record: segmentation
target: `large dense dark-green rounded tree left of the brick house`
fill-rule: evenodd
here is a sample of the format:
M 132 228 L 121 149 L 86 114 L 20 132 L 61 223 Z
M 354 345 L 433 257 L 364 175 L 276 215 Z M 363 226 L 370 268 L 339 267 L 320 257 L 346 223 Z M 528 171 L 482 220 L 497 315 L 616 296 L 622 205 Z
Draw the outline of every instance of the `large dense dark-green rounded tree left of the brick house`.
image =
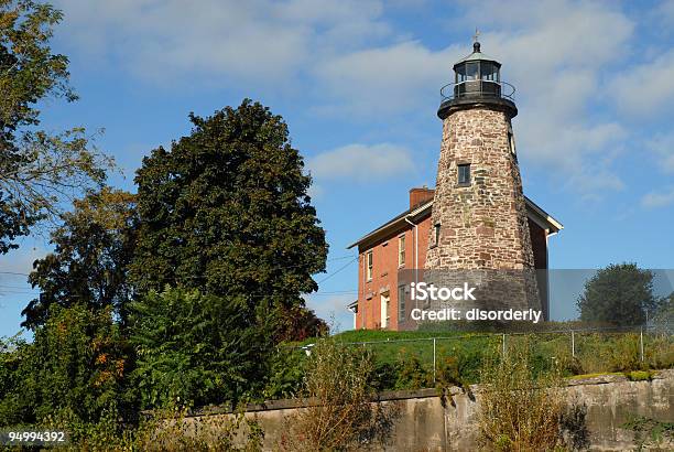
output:
M 248 99 L 191 120 L 189 136 L 152 151 L 137 173 L 139 291 L 198 288 L 251 313 L 302 306 L 327 244 L 287 126 Z

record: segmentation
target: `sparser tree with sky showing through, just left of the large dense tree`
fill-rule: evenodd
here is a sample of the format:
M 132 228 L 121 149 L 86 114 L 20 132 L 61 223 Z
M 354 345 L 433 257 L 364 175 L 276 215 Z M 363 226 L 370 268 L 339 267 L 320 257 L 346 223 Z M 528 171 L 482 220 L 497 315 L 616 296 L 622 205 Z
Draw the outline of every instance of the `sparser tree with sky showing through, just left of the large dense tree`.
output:
M 134 195 L 109 187 L 76 200 L 52 233 L 54 251 L 35 260 L 29 276 L 40 297 L 23 310 L 22 326 L 44 324 L 55 305 L 111 306 L 122 321 L 131 287 L 127 272 L 137 227 Z

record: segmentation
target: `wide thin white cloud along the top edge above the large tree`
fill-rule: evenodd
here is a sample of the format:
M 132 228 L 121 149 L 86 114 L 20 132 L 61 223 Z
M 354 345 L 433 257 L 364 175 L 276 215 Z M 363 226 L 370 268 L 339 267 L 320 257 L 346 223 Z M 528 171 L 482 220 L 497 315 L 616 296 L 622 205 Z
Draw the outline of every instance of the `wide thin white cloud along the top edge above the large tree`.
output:
M 167 83 L 189 75 L 283 85 L 318 54 L 385 35 L 378 0 L 57 0 L 73 46 Z

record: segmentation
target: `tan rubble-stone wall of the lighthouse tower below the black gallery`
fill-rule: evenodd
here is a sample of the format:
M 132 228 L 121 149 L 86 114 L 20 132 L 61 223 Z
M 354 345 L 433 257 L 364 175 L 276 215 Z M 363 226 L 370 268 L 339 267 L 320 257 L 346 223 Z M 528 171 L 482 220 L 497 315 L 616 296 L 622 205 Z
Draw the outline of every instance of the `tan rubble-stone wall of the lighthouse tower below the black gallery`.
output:
M 508 112 L 476 105 L 452 112 L 443 141 L 433 202 L 426 270 L 534 268 L 522 180 L 511 152 Z M 458 184 L 458 165 L 470 164 L 471 183 Z M 522 273 L 511 289 L 513 308 L 540 308 L 535 277 Z M 498 291 L 503 291 L 499 281 Z

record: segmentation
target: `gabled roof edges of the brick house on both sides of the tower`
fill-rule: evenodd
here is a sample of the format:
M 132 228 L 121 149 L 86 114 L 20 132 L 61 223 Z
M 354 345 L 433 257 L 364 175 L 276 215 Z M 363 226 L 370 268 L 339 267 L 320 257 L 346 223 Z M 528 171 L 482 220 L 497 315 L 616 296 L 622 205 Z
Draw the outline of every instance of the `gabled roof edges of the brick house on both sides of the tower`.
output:
M 559 230 L 564 229 L 562 223 L 553 218 L 550 214 L 547 214 L 547 212 L 543 211 L 536 203 L 531 201 L 529 197 L 524 196 L 524 202 L 526 204 L 526 216 L 529 217 L 529 219 L 536 223 L 543 229 L 547 230 L 548 235 L 556 234 Z M 380 236 L 384 236 L 385 233 L 399 229 L 404 226 L 405 223 L 407 223 L 406 219 L 415 223 L 420 218 L 424 218 L 425 216 L 431 215 L 431 207 L 433 207 L 433 200 L 427 201 L 426 203 L 423 203 L 418 206 L 412 207 L 403 212 L 402 214 L 391 218 L 371 233 L 366 234 L 365 236 L 349 245 L 347 249 L 351 249 L 355 246 L 373 240 L 376 238 L 379 238 Z

